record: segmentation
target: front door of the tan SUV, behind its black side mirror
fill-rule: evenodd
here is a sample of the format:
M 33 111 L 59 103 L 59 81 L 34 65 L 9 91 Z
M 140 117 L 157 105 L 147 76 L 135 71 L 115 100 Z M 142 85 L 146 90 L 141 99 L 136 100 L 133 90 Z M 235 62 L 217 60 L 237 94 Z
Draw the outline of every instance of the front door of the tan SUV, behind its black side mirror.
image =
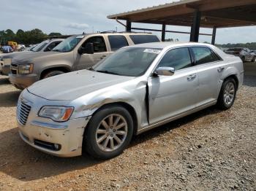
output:
M 80 55 L 77 53 L 75 70 L 88 69 L 112 53 L 108 52 L 103 36 L 93 36 L 86 39 L 86 41 L 83 42 L 82 47 L 85 47 L 87 43 L 94 44 L 94 54 Z

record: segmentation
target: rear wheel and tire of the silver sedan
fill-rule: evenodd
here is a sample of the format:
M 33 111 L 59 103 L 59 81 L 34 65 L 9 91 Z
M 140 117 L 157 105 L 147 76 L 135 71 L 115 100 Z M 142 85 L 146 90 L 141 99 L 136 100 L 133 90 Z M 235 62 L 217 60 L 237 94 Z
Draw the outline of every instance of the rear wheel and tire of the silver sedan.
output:
M 233 78 L 227 78 L 222 84 L 222 88 L 219 92 L 219 98 L 217 101 L 217 106 L 219 109 L 230 109 L 233 106 L 236 99 L 237 85 Z

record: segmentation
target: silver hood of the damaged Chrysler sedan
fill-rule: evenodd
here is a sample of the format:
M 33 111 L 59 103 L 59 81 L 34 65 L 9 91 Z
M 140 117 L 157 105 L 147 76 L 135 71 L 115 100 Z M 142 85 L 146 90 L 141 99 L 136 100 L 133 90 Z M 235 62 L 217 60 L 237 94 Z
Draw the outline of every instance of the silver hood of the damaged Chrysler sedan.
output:
M 48 100 L 72 101 L 82 95 L 134 78 L 80 70 L 43 79 L 28 87 L 28 90 Z

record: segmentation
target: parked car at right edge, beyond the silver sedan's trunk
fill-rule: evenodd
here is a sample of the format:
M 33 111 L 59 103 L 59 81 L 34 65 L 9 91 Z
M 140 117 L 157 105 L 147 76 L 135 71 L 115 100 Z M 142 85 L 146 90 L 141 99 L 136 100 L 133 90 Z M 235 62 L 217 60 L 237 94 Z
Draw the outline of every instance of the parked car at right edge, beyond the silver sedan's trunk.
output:
M 256 53 L 248 48 L 230 48 L 225 52 L 230 55 L 239 56 L 243 62 L 256 62 Z

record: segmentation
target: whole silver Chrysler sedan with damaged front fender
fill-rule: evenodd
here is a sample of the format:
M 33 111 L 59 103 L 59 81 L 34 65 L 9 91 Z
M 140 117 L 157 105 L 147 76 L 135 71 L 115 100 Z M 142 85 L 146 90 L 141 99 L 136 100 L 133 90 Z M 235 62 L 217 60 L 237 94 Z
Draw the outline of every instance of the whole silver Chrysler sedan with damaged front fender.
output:
M 90 69 L 23 90 L 18 129 L 52 155 L 115 157 L 135 134 L 215 104 L 229 109 L 243 78 L 241 59 L 210 44 L 124 47 Z

